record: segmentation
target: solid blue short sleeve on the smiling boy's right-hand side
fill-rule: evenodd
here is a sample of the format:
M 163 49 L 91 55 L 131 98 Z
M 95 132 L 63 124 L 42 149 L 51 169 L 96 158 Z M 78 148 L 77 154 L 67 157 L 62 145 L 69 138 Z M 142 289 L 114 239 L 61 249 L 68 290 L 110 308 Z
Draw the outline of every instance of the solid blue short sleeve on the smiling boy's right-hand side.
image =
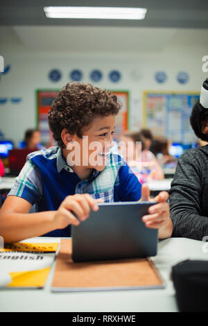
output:
M 119 169 L 119 186 L 115 201 L 137 201 L 141 198 L 141 183 L 128 164 Z

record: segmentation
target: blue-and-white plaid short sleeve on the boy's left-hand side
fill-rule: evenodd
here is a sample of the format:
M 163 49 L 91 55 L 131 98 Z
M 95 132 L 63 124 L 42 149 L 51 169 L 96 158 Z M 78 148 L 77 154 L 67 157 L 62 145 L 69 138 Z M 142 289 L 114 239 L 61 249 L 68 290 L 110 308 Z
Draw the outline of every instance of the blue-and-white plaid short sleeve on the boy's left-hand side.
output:
M 24 164 L 24 167 L 15 179 L 15 185 L 8 193 L 8 196 L 24 198 L 32 205 L 40 200 L 42 196 L 40 171 L 31 160 L 27 160 Z

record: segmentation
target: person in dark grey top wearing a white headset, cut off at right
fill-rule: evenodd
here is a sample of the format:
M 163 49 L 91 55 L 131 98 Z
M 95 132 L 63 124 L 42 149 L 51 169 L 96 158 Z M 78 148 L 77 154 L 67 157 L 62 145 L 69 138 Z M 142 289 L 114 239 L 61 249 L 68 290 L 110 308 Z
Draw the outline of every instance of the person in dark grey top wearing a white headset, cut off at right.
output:
M 190 117 L 196 136 L 208 141 L 208 78 Z M 172 237 L 202 240 L 208 236 L 208 145 L 179 157 L 171 183 Z

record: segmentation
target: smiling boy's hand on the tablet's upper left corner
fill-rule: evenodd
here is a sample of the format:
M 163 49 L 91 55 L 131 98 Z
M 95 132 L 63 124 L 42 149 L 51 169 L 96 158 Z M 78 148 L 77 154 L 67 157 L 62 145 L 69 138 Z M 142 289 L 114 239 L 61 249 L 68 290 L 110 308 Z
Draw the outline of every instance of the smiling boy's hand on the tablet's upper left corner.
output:
M 79 225 L 80 221 L 85 221 L 89 216 L 90 209 L 98 210 L 97 203 L 103 203 L 103 200 L 95 200 L 89 194 L 67 196 L 53 216 L 55 228 L 64 229 L 69 224 Z

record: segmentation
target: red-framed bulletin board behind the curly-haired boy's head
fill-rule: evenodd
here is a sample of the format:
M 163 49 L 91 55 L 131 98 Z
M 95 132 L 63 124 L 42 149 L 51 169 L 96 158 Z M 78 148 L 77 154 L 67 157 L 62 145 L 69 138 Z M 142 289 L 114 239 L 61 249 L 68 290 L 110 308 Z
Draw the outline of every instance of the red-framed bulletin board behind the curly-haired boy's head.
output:
M 58 92 L 58 89 L 37 89 L 36 91 L 37 128 L 40 130 L 41 143 L 44 146 L 55 145 L 52 132 L 49 130 L 48 113 Z M 121 111 L 116 116 L 115 134 L 119 136 L 121 132 L 128 129 L 129 92 L 119 90 L 112 90 L 112 92 L 117 96 L 118 101 L 122 104 Z

